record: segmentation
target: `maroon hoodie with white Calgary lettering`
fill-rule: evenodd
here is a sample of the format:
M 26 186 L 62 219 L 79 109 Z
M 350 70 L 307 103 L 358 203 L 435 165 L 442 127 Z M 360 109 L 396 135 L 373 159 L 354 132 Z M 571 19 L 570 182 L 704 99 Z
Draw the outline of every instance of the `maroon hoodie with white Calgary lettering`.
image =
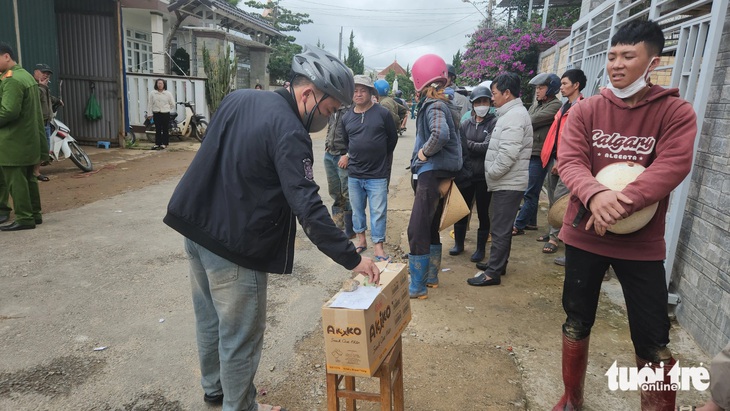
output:
M 679 90 L 652 86 L 644 98 L 629 107 L 610 90 L 580 101 L 570 116 L 558 148 L 560 178 L 571 198 L 560 239 L 582 250 L 625 260 L 658 261 L 666 257 L 664 222 L 669 194 L 689 174 L 697 135 L 692 105 L 679 98 Z M 608 190 L 595 175 L 609 164 L 633 161 L 646 170 L 622 191 L 633 200 L 623 204 L 629 214 L 659 202 L 649 223 L 630 234 L 607 232 L 601 237 L 573 221 L 581 204 Z

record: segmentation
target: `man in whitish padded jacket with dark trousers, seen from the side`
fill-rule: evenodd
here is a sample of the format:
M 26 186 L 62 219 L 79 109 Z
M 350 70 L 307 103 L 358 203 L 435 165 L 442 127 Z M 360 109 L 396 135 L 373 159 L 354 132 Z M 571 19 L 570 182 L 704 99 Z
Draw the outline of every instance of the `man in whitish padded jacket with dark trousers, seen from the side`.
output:
M 507 272 L 512 223 L 527 188 L 532 152 L 532 121 L 520 99 L 520 78 L 514 73 L 500 74 L 491 88 L 497 124 L 489 141 L 484 170 L 487 189 L 492 193 L 492 246 L 489 260 L 477 263 L 483 271 L 467 280 L 474 286 L 498 285 Z

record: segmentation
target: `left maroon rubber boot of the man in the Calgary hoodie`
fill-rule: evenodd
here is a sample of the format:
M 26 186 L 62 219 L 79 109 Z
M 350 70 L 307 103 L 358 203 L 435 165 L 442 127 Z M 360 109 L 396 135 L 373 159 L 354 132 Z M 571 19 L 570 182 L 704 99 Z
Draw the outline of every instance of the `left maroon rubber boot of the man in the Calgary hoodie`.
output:
M 590 336 L 574 340 L 563 334 L 563 384 L 565 393 L 553 411 L 577 411 L 583 406 L 583 385 L 588 368 Z

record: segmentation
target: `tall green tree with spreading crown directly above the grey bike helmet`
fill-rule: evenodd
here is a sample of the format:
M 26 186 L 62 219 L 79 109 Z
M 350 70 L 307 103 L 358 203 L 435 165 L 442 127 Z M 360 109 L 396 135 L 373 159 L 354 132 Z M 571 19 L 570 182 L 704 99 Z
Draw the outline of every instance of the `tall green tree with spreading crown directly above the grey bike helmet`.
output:
M 300 26 L 312 23 L 307 13 L 293 13 L 291 10 L 279 6 L 279 1 L 267 0 L 264 2 L 249 0 L 244 3 L 248 7 L 260 10 L 270 10 L 263 16 L 279 32 L 301 31 Z M 289 80 L 291 61 L 294 55 L 302 51 L 302 46 L 295 44 L 294 36 L 275 37 L 270 41 L 274 49 L 269 59 L 269 75 L 272 82 L 283 84 Z

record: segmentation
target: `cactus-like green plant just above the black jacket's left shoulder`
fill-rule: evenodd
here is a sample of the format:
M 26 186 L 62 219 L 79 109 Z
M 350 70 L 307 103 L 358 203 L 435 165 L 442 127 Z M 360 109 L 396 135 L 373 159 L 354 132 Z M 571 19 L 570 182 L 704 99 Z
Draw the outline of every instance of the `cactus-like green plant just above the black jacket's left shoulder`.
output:
M 205 82 L 205 100 L 208 103 L 208 110 L 213 116 L 223 97 L 233 89 L 233 81 L 236 77 L 238 58 L 231 60 L 231 47 L 226 47 L 226 53 L 221 53 L 221 46 L 218 45 L 216 56 L 211 56 L 208 48 L 203 44 L 203 68 L 208 81 Z

